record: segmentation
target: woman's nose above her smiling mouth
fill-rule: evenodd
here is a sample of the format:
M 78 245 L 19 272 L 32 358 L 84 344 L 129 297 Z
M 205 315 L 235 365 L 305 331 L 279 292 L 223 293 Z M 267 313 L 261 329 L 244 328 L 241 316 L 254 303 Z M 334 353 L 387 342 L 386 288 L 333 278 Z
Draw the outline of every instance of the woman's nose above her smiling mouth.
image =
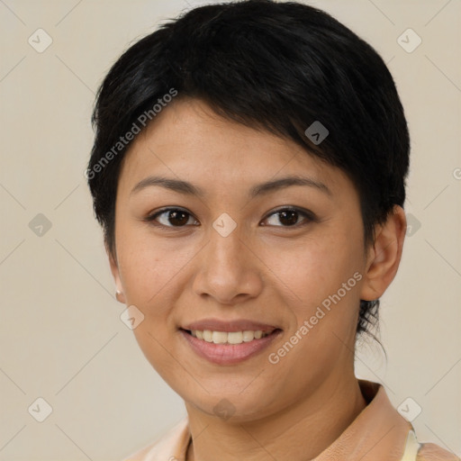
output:
M 235 304 L 257 297 L 262 290 L 262 263 L 239 227 L 223 237 L 215 230 L 195 263 L 194 293 L 212 297 L 217 303 Z

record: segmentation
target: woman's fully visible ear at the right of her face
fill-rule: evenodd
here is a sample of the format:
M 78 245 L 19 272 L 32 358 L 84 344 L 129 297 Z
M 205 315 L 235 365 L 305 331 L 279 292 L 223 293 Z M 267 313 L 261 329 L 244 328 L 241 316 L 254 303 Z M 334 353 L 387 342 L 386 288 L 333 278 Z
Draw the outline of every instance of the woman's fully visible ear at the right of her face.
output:
M 406 228 L 405 212 L 401 206 L 394 205 L 385 223 L 375 229 L 375 242 L 368 249 L 360 299 L 378 299 L 391 285 L 402 258 Z

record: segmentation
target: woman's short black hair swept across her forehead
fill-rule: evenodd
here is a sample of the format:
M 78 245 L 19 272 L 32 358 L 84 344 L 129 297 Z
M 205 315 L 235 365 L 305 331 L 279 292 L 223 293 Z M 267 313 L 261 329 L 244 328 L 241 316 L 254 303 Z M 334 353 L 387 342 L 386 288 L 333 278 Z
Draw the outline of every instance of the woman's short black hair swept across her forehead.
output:
M 393 77 L 376 51 L 312 6 L 206 5 L 132 45 L 99 88 L 86 173 L 112 255 L 118 178 L 131 144 L 121 137 L 147 126 L 140 123 L 146 113 L 155 121 L 154 105 L 172 90 L 176 99 L 200 99 L 218 115 L 294 140 L 343 170 L 357 187 L 366 244 L 393 205 L 403 206 L 409 133 Z M 320 144 L 305 134 L 313 122 L 329 131 Z M 378 307 L 379 300 L 361 300 L 357 333 L 376 324 Z

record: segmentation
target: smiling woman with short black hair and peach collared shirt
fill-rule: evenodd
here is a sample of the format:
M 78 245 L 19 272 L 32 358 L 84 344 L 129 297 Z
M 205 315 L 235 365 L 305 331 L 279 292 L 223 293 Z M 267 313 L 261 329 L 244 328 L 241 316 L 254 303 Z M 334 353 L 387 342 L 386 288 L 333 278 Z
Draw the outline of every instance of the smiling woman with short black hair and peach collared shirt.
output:
M 196 8 L 114 64 L 94 123 L 117 299 L 187 410 L 128 459 L 456 459 L 354 375 L 406 228 L 375 50 L 307 5 Z

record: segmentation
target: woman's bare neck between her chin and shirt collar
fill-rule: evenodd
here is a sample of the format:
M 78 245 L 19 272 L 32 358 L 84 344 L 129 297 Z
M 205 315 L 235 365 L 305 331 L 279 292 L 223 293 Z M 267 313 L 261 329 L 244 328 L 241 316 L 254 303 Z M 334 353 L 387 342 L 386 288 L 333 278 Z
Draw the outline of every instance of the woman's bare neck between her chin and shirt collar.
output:
M 366 407 L 357 378 L 337 376 L 302 402 L 260 420 L 231 423 L 186 404 L 194 443 L 187 461 L 308 461 L 320 455 Z M 238 443 L 236 443 L 238 440 Z

